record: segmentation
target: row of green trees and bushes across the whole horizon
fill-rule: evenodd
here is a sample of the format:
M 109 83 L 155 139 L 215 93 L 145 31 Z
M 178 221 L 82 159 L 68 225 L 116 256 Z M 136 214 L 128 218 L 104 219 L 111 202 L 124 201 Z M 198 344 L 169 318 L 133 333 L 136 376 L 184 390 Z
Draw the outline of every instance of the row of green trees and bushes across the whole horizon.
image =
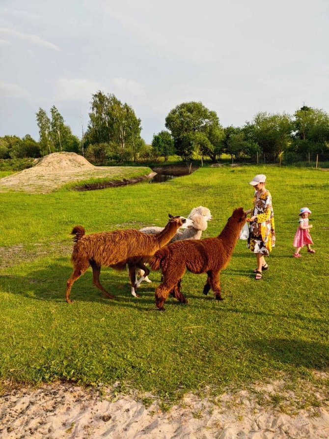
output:
M 92 95 L 86 131 L 78 139 L 53 106 L 50 117 L 36 113 L 39 141 L 28 134 L 0 137 L 0 159 L 40 157 L 56 151 L 73 151 L 94 164 L 157 160 L 177 154 L 184 161 L 195 155 L 216 162 L 222 154 L 235 159 L 257 153 L 278 157 L 282 152 L 329 152 L 329 115 L 304 105 L 294 115 L 257 113 L 244 126 L 223 127 L 215 111 L 201 102 L 184 102 L 165 117 L 165 128 L 152 144 L 141 137 L 141 120 L 127 103 L 101 91 Z

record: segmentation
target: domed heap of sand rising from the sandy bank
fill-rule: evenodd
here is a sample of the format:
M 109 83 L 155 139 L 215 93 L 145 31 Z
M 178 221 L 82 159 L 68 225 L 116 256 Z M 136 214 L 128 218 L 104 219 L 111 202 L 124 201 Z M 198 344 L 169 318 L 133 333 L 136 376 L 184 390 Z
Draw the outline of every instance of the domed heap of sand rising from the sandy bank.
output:
M 95 166 L 88 162 L 82 155 L 75 152 L 53 152 L 43 157 L 33 169 L 47 172 L 57 171 L 83 171 L 94 169 Z

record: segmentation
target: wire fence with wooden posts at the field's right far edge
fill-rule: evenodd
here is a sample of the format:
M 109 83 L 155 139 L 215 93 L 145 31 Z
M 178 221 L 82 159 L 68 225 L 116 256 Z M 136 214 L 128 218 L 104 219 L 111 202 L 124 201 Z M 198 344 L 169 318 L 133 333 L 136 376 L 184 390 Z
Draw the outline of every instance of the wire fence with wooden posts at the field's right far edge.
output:
M 232 163 L 250 163 L 254 165 L 277 164 L 281 166 L 296 166 L 300 168 L 329 168 L 329 153 L 314 154 L 310 152 L 283 152 L 275 154 L 257 153 L 251 157 L 232 158 Z

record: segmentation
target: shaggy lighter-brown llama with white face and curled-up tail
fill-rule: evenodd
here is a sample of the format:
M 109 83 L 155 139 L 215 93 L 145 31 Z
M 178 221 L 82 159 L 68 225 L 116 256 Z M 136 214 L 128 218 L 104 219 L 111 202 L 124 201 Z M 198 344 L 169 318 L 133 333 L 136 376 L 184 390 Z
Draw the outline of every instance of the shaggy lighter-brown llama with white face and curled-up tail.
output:
M 74 269 L 66 283 L 66 301 L 72 302 L 70 300 L 72 285 L 85 273 L 89 265 L 92 268 L 93 284 L 106 297 L 113 299 L 114 296 L 109 294 L 99 281 L 101 267 L 105 265 L 116 270 L 123 270 L 127 264 L 132 293 L 135 293 L 137 288 L 136 269 L 141 268 L 149 274 L 150 270 L 144 263 L 148 262 L 157 250 L 167 244 L 183 224 L 188 226 L 192 223 L 182 216 L 169 215 L 169 218 L 164 230 L 157 235 L 143 234 L 134 229 L 85 235 L 82 226 L 75 226 L 72 230 L 72 234 L 75 234 L 73 238 L 75 244 L 71 257 Z

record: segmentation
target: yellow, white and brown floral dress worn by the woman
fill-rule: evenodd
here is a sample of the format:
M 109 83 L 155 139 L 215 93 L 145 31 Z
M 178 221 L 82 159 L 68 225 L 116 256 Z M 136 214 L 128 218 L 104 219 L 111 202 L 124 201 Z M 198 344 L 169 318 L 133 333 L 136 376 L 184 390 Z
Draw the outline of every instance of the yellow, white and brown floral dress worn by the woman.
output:
M 268 256 L 275 245 L 274 213 L 272 196 L 268 190 L 253 197 L 253 214 L 257 218 L 250 223 L 247 247 L 252 253 Z

